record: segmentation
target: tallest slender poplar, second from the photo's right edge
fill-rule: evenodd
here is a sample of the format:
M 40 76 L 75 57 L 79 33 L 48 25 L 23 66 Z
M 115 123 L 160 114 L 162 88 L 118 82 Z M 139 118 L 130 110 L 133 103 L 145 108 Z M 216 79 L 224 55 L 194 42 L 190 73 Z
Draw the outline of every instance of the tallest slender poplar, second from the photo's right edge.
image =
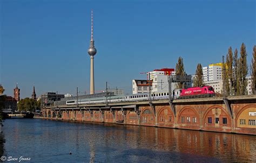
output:
M 248 74 L 248 67 L 247 67 L 247 53 L 246 53 L 246 47 L 244 42 L 241 45 L 240 48 L 240 64 L 241 64 L 241 78 L 240 78 L 240 82 L 241 82 L 241 93 L 242 94 L 247 94 L 247 80 L 246 80 L 246 76 Z

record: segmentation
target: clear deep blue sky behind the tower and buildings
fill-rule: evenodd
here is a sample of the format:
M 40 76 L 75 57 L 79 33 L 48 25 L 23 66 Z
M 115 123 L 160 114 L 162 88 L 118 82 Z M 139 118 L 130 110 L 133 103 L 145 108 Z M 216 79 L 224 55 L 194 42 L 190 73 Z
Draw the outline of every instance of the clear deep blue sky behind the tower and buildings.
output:
M 0 0 L 0 83 L 21 97 L 90 89 L 87 49 L 93 9 L 95 89 L 131 93 L 132 79 L 175 68 L 179 56 L 194 74 L 197 64 L 221 62 L 228 47 L 255 45 L 255 1 Z

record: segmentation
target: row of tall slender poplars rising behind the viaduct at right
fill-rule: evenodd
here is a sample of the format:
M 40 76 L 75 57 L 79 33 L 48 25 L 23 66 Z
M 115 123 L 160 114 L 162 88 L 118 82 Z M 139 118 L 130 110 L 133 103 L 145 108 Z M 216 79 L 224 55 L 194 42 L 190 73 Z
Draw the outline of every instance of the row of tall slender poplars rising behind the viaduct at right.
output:
M 251 86 L 253 94 L 255 94 L 256 88 L 256 46 L 253 47 L 252 61 L 250 64 L 250 75 L 251 75 Z M 240 47 L 240 56 L 238 56 L 238 49 L 235 48 L 234 54 L 232 47 L 228 48 L 226 54 L 226 60 L 223 58 L 222 61 L 222 79 L 223 79 L 223 90 L 225 90 L 225 95 L 242 95 L 247 94 L 247 79 L 248 66 L 247 66 L 247 52 L 246 46 L 242 43 Z M 183 58 L 179 56 L 178 62 L 176 63 L 176 75 L 186 75 Z M 203 87 L 204 76 L 203 67 L 201 63 L 198 63 L 195 76 L 193 78 L 194 87 Z M 184 82 L 177 83 L 177 88 L 182 89 L 185 87 Z

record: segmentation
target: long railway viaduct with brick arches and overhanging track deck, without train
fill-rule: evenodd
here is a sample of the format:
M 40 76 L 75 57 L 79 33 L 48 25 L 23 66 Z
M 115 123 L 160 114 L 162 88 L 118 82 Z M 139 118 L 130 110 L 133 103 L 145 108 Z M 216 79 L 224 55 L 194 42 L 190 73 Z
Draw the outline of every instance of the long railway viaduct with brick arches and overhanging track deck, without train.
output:
M 43 118 L 256 135 L 256 95 L 44 107 Z

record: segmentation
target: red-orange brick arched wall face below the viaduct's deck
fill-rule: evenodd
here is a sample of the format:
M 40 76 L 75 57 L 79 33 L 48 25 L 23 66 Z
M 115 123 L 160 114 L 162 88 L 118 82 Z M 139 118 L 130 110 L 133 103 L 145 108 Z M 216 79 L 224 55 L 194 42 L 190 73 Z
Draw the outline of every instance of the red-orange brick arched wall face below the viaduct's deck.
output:
M 256 135 L 256 126 L 248 125 L 248 119 L 256 118 L 249 116 L 248 112 L 256 112 L 255 101 L 235 101 L 231 104 L 233 118 L 228 112 L 226 105 L 221 101 L 216 102 L 200 102 L 200 103 L 179 103 L 174 104 L 176 108 L 176 117 L 169 104 L 157 104 L 154 110 L 149 105 L 139 107 L 140 114 L 131 110 L 127 110 L 126 115 L 122 111 L 105 111 L 104 117 L 102 112 L 93 111 L 92 117 L 90 111 L 84 111 L 84 121 L 106 122 L 106 123 L 124 123 L 131 125 L 159 126 L 159 127 L 177 127 L 179 129 L 218 131 L 218 132 L 236 132 Z M 246 113 L 246 114 L 245 114 Z M 51 115 L 53 119 L 53 111 L 50 109 L 43 110 L 43 116 Z M 58 115 L 58 112 L 56 112 Z M 248 116 L 245 116 L 248 115 Z M 209 123 L 211 118 L 211 123 Z M 219 118 L 216 123 L 215 118 Z M 225 119 L 224 119 L 225 118 Z M 246 125 L 240 125 L 239 119 L 245 118 Z M 55 118 L 54 118 L 55 119 Z M 58 118 L 61 119 L 61 118 Z M 63 111 L 62 119 L 83 121 L 80 111 Z M 156 122 L 157 121 L 157 122 Z

